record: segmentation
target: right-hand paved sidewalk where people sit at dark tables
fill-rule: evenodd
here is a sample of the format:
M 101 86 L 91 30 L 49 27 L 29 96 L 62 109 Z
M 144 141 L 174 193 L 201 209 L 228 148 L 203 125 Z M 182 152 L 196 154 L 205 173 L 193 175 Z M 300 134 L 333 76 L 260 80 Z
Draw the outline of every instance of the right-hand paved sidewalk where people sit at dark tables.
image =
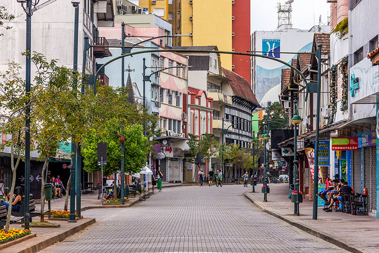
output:
M 288 199 L 289 187 L 286 183 L 270 184 L 268 202 L 263 202 L 261 185 L 256 192 L 249 191 L 245 197 L 263 212 L 280 218 L 311 235 L 331 242 L 354 253 L 379 252 L 379 219 L 370 216 L 355 216 L 344 213 L 326 213 L 318 208 L 317 220 L 312 220 L 312 202 L 304 200 L 299 204 L 300 216 L 293 215 L 293 203 Z M 259 191 L 259 192 L 258 192 Z

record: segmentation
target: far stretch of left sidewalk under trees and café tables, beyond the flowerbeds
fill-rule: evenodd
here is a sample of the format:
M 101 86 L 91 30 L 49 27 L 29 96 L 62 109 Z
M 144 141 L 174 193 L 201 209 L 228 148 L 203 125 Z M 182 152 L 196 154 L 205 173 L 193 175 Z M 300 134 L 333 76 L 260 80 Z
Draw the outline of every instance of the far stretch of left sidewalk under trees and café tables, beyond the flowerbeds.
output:
M 182 184 L 181 183 L 167 183 L 167 182 L 162 183 L 162 188 L 176 187 L 176 186 L 182 186 Z M 150 188 L 150 193 L 151 193 L 151 186 L 149 188 Z M 82 194 L 81 210 L 84 211 L 84 210 L 93 209 L 93 208 L 124 208 L 124 207 L 131 207 L 132 205 L 138 202 L 138 194 L 137 194 L 136 198 L 129 198 L 129 200 L 125 201 L 124 205 L 120 205 L 120 204 L 102 205 L 102 199 L 101 198 L 98 199 L 98 196 L 99 196 L 99 191 L 95 191 L 95 193 L 92 193 L 92 194 Z M 62 196 L 62 199 L 51 200 L 52 210 L 63 210 L 65 207 L 65 197 L 66 196 Z M 69 210 L 69 206 L 70 206 L 70 199 L 68 203 L 68 210 Z M 45 209 L 48 209 L 47 203 L 45 204 Z

